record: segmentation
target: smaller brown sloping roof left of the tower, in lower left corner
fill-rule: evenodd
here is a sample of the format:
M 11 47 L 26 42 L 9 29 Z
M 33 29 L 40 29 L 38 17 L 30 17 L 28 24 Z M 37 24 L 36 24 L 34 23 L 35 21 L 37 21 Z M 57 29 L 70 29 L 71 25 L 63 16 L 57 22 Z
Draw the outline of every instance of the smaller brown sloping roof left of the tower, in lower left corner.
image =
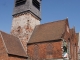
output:
M 10 34 L 0 31 L 3 43 L 8 54 L 27 57 L 20 40 Z

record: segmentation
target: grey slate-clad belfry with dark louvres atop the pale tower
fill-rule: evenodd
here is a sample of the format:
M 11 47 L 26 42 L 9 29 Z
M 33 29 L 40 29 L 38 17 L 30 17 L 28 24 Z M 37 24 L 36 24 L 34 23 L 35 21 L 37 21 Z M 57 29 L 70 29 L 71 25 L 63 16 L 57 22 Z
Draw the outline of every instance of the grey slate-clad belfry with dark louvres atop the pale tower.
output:
M 30 11 L 41 19 L 41 0 L 15 0 L 13 16 Z

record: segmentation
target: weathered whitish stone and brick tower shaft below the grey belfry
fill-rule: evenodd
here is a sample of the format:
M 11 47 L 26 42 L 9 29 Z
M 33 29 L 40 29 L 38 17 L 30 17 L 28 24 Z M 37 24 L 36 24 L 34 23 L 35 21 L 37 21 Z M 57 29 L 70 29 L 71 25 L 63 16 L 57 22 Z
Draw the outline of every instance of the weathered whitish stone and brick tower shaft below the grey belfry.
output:
M 27 51 L 27 42 L 35 26 L 39 24 L 40 20 L 31 13 L 22 13 L 13 16 L 11 34 L 20 39 L 25 51 Z

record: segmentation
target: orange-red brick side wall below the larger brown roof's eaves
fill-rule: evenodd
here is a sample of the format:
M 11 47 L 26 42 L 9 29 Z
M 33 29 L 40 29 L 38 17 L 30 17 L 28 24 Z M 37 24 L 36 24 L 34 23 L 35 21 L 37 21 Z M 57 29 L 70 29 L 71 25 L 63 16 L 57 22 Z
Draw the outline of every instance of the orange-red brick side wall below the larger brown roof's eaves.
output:
M 28 56 L 33 60 L 62 58 L 61 45 L 62 41 L 44 42 L 28 45 Z

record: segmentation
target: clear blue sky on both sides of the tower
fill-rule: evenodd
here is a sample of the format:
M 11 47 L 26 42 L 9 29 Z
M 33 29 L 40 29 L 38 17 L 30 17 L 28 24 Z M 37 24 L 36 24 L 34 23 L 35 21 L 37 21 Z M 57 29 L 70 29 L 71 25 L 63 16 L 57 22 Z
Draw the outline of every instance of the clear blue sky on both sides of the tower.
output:
M 0 0 L 0 30 L 10 33 L 14 0 Z M 68 18 L 70 28 L 80 32 L 80 0 L 42 0 L 41 24 Z

